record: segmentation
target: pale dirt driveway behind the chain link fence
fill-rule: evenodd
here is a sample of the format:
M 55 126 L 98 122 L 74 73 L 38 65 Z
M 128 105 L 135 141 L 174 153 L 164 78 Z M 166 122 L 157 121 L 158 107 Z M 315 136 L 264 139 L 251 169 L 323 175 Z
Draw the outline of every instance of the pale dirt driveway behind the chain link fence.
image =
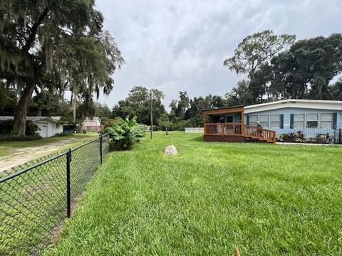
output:
M 0 157 L 0 171 L 9 170 L 14 166 L 19 166 L 28 161 L 38 159 L 42 156 L 51 154 L 63 146 L 71 144 L 79 139 L 71 138 L 60 142 L 51 142 L 43 146 L 28 146 L 24 148 L 13 148 L 9 156 Z

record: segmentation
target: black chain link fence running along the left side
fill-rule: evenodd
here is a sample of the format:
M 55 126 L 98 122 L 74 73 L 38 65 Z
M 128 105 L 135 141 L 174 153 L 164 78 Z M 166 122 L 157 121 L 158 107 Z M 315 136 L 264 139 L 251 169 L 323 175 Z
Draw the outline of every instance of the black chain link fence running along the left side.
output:
M 0 174 L 0 255 L 37 255 L 51 242 L 108 153 L 108 139 Z

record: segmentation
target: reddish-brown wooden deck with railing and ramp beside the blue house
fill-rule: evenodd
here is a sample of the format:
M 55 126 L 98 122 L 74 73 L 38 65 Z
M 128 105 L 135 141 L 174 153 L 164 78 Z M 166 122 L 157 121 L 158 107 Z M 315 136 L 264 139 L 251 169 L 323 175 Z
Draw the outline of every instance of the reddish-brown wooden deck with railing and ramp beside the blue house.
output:
M 242 123 L 204 124 L 205 142 L 276 142 L 276 132 Z

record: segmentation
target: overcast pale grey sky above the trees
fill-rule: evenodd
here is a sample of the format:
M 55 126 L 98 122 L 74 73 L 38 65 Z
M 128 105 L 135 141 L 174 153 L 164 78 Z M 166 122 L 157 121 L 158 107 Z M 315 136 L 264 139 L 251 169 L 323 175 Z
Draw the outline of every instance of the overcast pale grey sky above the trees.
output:
M 297 39 L 341 33 L 342 0 L 96 0 L 125 65 L 101 103 L 113 107 L 137 85 L 190 97 L 224 95 L 238 77 L 223 66 L 238 43 L 271 29 Z

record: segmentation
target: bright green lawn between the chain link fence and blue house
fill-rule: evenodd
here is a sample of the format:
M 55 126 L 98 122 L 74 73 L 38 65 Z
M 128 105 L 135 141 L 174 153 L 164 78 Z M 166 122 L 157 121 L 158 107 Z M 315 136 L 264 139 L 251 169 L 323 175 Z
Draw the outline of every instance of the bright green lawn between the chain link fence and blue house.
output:
M 341 255 L 341 150 L 156 132 L 106 156 L 46 254 Z

